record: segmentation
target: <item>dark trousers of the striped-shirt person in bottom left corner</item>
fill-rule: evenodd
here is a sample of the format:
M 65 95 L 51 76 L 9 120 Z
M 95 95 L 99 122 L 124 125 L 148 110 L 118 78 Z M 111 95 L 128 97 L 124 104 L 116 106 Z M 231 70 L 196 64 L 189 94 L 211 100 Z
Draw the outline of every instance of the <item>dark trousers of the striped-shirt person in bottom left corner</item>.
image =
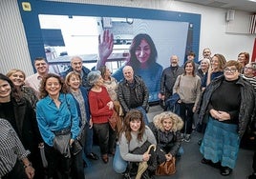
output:
M 25 179 L 28 178 L 25 169 L 23 168 L 22 162 L 21 161 L 16 161 L 16 164 L 14 167 L 11 169 L 11 171 L 6 174 L 5 176 L 2 177 L 2 179 Z

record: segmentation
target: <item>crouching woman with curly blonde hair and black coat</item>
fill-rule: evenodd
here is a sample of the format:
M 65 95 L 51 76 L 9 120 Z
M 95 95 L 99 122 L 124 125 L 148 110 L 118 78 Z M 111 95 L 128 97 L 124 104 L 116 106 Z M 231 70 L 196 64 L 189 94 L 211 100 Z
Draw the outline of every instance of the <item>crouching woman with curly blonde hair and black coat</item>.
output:
M 149 128 L 153 131 L 160 153 L 158 163 L 169 161 L 172 157 L 181 156 L 181 129 L 183 121 L 181 117 L 171 111 L 164 111 L 153 118 Z

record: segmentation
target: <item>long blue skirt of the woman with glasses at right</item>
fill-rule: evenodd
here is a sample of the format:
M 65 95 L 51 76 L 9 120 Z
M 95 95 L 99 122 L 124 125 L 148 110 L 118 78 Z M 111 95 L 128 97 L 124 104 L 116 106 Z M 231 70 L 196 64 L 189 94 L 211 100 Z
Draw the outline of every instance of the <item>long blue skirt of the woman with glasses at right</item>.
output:
M 237 130 L 237 125 L 225 124 L 209 117 L 200 148 L 203 157 L 234 169 L 240 144 Z

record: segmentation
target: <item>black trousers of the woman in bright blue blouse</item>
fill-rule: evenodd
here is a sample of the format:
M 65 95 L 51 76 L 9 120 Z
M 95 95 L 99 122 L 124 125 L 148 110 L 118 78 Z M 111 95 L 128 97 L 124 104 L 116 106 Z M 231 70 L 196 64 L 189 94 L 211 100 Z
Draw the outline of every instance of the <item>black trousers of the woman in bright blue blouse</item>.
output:
M 69 179 L 70 158 L 45 144 L 45 156 L 48 161 L 48 177 L 53 179 Z

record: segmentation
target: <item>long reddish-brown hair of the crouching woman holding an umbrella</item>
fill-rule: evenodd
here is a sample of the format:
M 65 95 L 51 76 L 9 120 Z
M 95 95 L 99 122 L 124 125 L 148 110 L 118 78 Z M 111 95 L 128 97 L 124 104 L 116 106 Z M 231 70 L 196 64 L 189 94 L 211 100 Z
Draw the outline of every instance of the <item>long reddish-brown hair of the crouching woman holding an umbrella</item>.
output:
M 120 133 L 125 133 L 126 139 L 130 142 L 132 139 L 131 131 L 132 129 L 130 128 L 130 122 L 131 121 L 140 121 L 140 128 L 139 128 L 139 133 L 138 133 L 138 140 L 142 140 L 143 133 L 145 132 L 145 123 L 143 120 L 143 114 L 141 111 L 137 109 L 131 109 L 129 112 L 126 113 L 123 121 L 123 127 L 120 131 Z

